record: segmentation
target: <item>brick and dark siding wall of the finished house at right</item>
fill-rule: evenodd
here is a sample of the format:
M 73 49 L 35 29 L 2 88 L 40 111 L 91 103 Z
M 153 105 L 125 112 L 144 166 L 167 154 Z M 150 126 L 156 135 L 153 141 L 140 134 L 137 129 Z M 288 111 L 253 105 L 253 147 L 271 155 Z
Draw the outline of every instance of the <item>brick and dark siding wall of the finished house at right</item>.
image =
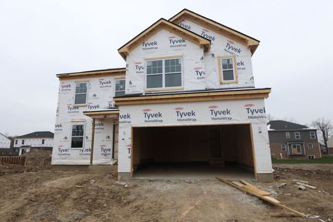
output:
M 286 132 L 289 132 L 290 138 L 286 137 Z M 295 139 L 295 132 L 300 132 L 300 139 Z M 316 132 L 316 130 L 286 130 L 286 131 L 268 131 L 271 156 L 276 159 L 307 159 L 309 155 L 314 155 L 315 158 L 321 158 L 320 146 L 318 138 L 311 139 L 309 132 Z M 302 155 L 289 155 L 287 143 L 304 143 L 304 150 Z M 285 144 L 287 151 L 282 151 L 281 145 Z M 309 148 L 312 144 L 314 148 Z M 281 154 L 280 154 L 281 153 Z

